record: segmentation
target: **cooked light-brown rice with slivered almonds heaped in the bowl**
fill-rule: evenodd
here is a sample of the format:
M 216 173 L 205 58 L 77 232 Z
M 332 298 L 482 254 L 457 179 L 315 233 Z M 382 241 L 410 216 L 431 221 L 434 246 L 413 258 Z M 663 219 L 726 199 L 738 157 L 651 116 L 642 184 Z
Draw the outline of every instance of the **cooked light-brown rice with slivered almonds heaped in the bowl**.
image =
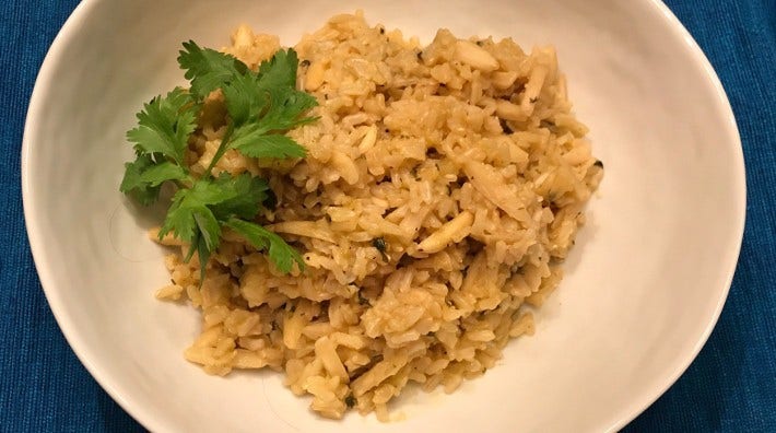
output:
M 256 68 L 279 39 L 242 26 L 224 48 Z M 270 180 L 261 222 L 304 254 L 282 274 L 234 233 L 199 281 L 188 246 L 156 294 L 201 311 L 185 352 L 210 374 L 285 373 L 311 409 L 388 419 L 410 383 L 451 393 L 495 366 L 557 286 L 602 165 L 573 114 L 552 47 L 458 39 L 426 47 L 399 31 L 337 15 L 295 47 L 298 86 L 320 119 L 290 134 L 304 160 L 230 151 L 216 171 Z M 202 173 L 225 132 L 213 93 L 190 142 Z

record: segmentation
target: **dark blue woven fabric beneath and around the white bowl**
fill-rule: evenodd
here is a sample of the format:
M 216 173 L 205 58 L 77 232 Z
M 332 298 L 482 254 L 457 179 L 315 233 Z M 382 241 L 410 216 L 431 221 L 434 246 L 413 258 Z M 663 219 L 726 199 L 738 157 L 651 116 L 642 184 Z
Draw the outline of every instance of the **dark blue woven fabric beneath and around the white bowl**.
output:
M 78 361 L 24 232 L 20 150 L 37 70 L 77 0 L 0 4 L 0 432 L 142 431 Z M 743 249 L 698 358 L 627 432 L 776 432 L 776 0 L 670 0 L 717 70 L 741 130 Z

